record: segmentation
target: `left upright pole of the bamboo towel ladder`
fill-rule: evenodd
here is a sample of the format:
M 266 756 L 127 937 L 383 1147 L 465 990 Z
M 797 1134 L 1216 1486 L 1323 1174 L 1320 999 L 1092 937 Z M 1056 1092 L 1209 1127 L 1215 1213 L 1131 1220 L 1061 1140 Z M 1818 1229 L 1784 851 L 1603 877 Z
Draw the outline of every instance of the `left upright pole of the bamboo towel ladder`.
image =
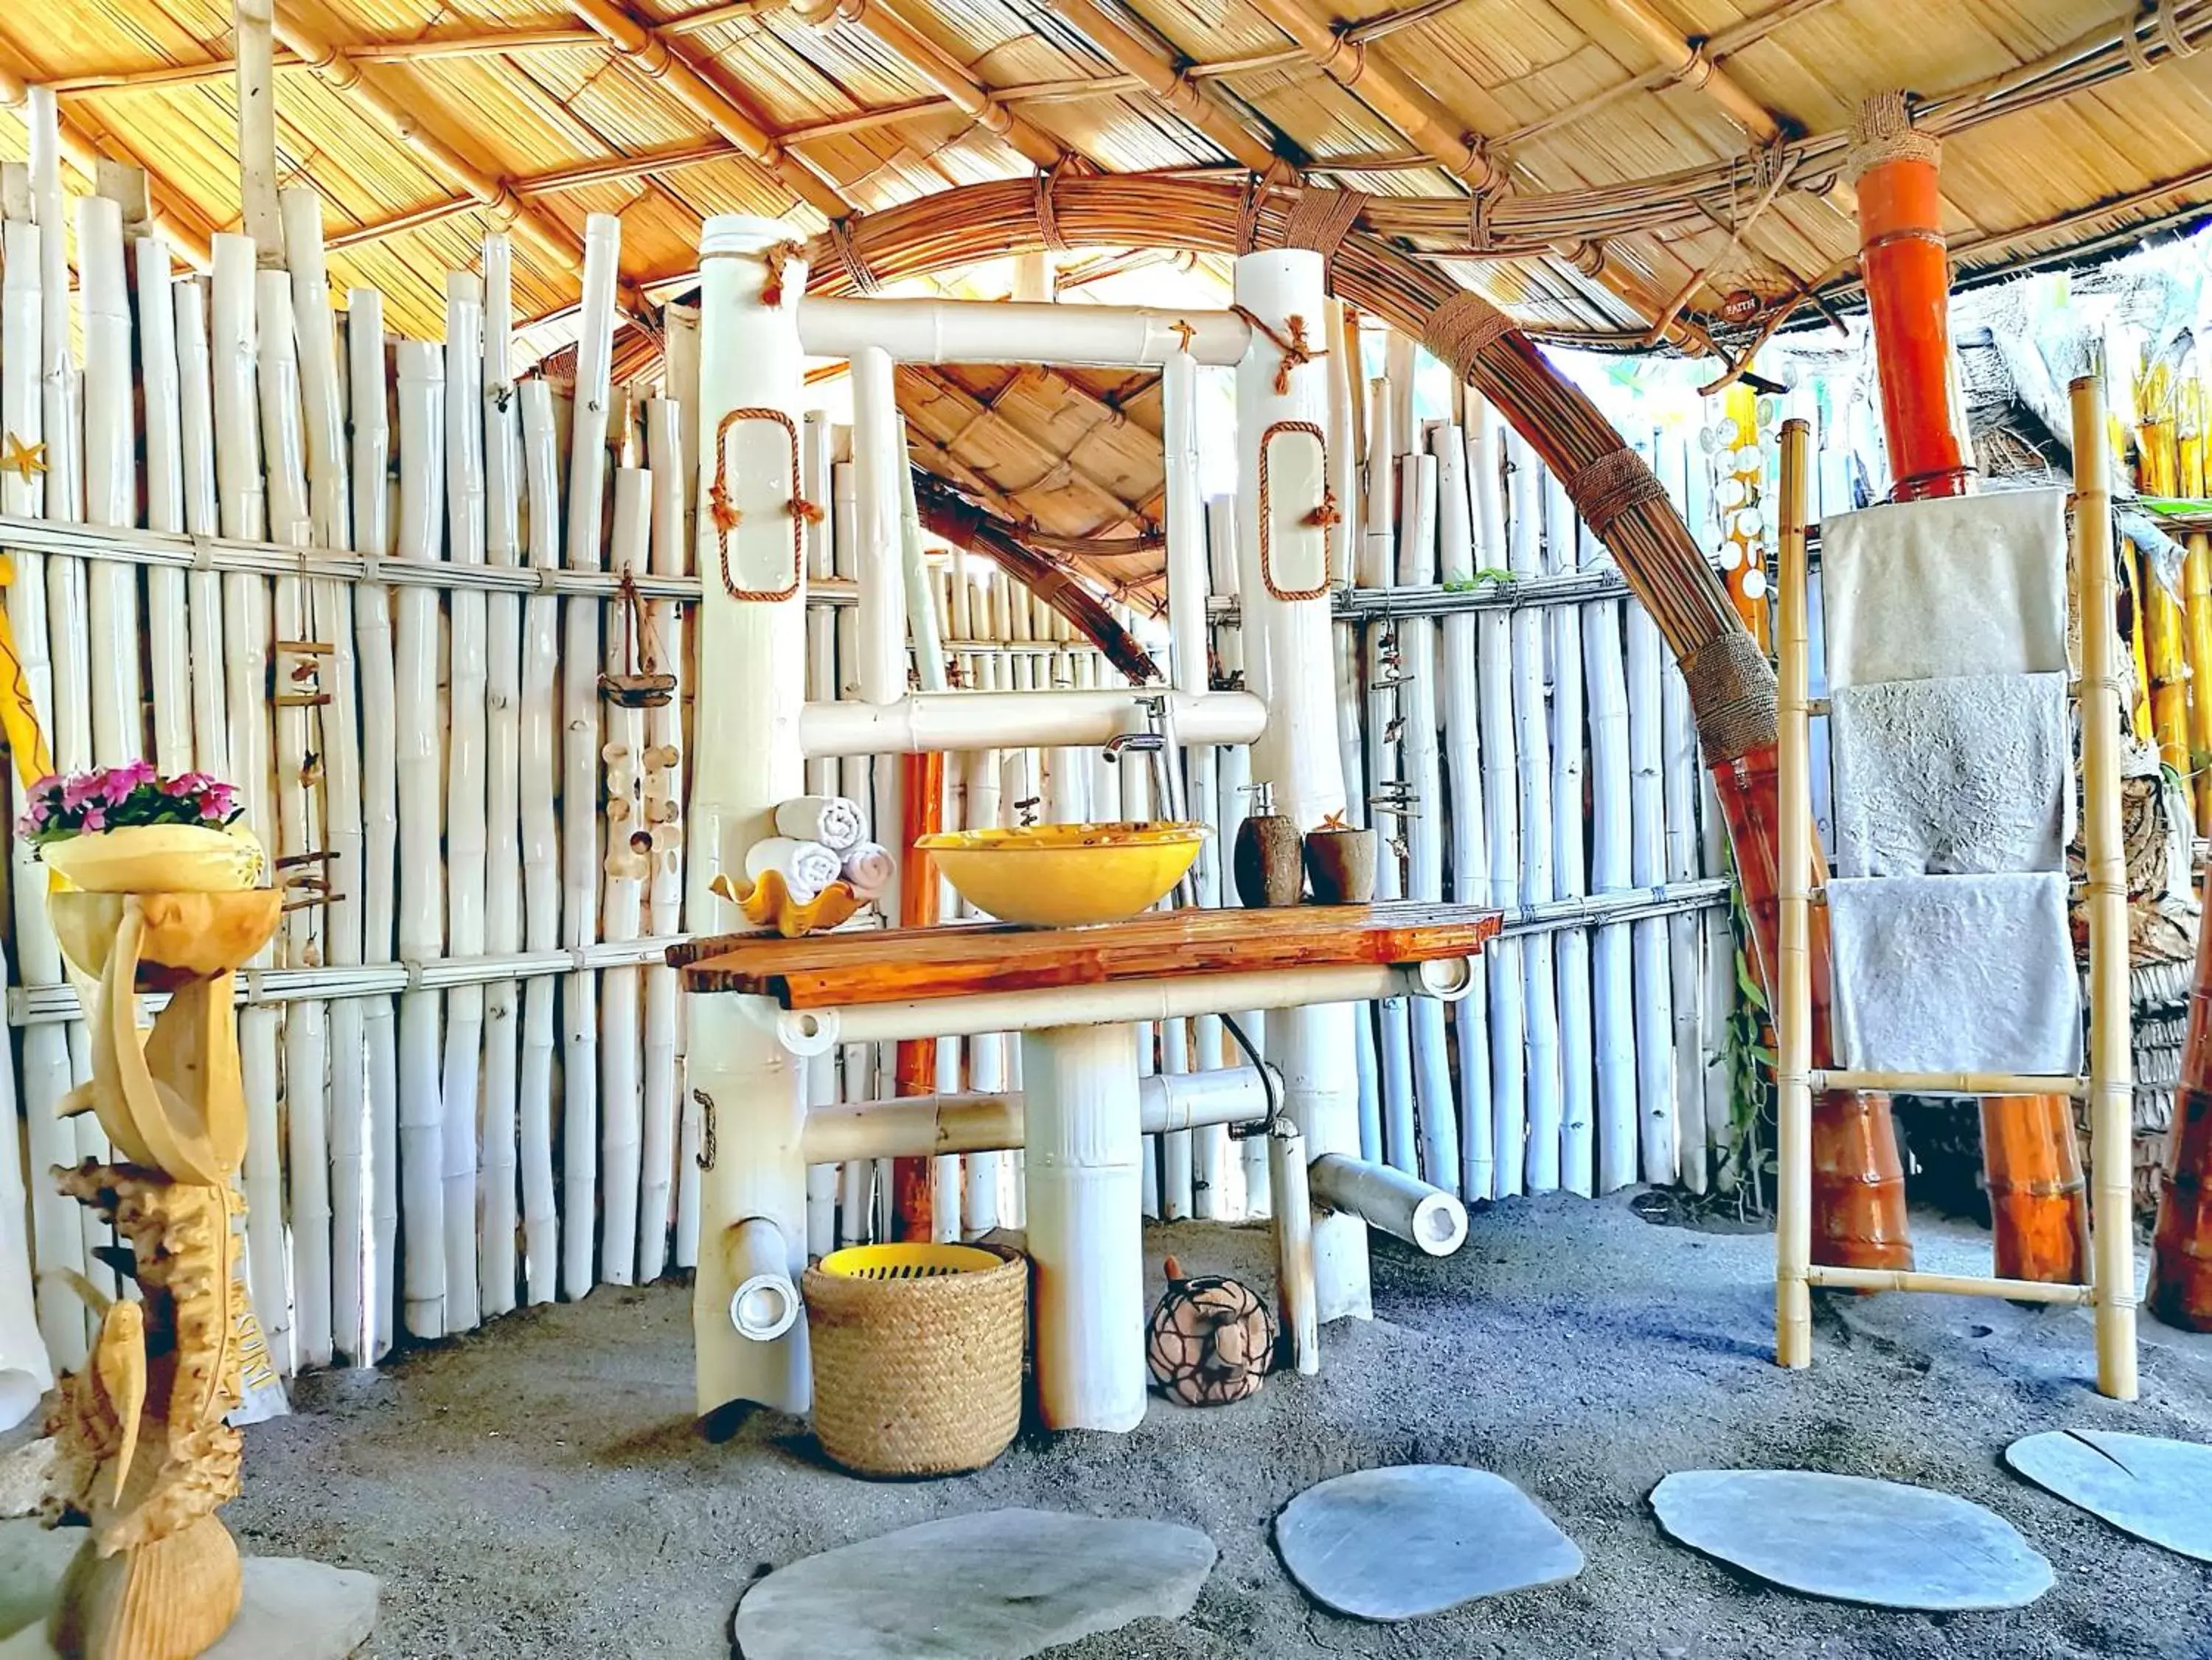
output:
M 1781 1092 L 1774 1176 L 1774 1364 L 1812 1366 L 1812 723 L 1805 714 L 1805 449 L 1803 420 L 1783 424 L 1781 561 L 1774 634 L 1781 652 L 1781 745 L 1776 754 L 1781 851 L 1781 997 L 1774 1006 Z

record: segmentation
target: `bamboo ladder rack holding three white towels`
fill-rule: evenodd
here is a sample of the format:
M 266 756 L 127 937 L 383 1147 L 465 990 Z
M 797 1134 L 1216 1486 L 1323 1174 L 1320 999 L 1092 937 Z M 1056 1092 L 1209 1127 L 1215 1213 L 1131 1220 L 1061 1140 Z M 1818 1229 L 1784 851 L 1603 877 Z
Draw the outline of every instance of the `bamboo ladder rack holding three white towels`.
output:
M 2081 617 L 2081 794 L 2088 851 L 2086 1076 L 2011 1072 L 1840 1072 L 1812 1065 L 1812 904 L 1820 882 L 1812 836 L 1812 698 L 1805 623 L 1805 449 L 1807 424 L 1783 427 L 1781 570 L 1781 999 L 1776 1083 L 1781 1187 L 1774 1229 L 1774 1359 L 1812 1364 L 1812 1286 L 1851 1291 L 1940 1291 L 2088 1306 L 2097 1326 L 2097 1388 L 2119 1401 L 2135 1377 L 2135 1216 L 2130 1189 L 2130 1006 L 2128 882 L 2119 838 L 2119 650 L 2112 626 L 2112 491 L 2104 380 L 2073 382 L 2075 599 Z M 1836 1269 L 1812 1260 L 1812 1099 L 1820 1090 L 1913 1090 L 1922 1094 L 2064 1094 L 2090 1103 L 2095 1165 L 2088 1284 L 1997 1280 L 1896 1269 Z

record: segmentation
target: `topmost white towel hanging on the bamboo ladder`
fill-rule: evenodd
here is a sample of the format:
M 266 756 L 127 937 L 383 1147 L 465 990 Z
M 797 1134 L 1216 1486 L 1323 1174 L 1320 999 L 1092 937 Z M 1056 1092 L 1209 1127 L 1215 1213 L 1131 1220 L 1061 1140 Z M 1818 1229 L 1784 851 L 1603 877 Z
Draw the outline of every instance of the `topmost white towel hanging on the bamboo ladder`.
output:
M 1820 524 L 1827 685 L 2066 670 L 2066 493 L 1898 502 Z

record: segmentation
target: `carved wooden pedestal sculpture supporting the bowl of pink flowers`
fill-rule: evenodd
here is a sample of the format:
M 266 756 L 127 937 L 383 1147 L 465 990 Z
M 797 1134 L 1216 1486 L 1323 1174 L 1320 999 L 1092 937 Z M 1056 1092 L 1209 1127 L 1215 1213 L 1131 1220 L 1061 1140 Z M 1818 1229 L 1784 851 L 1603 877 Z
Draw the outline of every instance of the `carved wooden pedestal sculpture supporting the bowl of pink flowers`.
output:
M 51 1501 L 91 1536 L 49 1636 L 64 1660 L 188 1660 L 239 1611 L 239 1549 L 217 1510 L 239 1492 L 234 1176 L 246 1099 L 230 975 L 274 933 L 281 895 L 55 893 L 55 933 L 86 975 L 93 1112 L 115 1163 L 58 1172 L 128 1240 L 139 1302 L 104 1309 L 84 1370 L 62 1384 Z M 144 1046 L 137 995 L 166 990 Z

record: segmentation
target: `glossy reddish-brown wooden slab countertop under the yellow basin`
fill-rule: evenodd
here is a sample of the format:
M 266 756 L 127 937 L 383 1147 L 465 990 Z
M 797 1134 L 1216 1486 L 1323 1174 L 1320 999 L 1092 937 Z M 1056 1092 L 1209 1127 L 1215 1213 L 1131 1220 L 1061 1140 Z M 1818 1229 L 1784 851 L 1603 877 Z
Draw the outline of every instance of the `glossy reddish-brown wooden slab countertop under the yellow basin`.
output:
M 752 992 L 783 1008 L 1104 986 L 1115 979 L 1343 968 L 1469 957 L 1500 928 L 1471 904 L 1305 904 L 1281 911 L 1146 911 L 1095 928 L 863 928 L 805 939 L 730 933 L 668 953 L 695 992 Z

